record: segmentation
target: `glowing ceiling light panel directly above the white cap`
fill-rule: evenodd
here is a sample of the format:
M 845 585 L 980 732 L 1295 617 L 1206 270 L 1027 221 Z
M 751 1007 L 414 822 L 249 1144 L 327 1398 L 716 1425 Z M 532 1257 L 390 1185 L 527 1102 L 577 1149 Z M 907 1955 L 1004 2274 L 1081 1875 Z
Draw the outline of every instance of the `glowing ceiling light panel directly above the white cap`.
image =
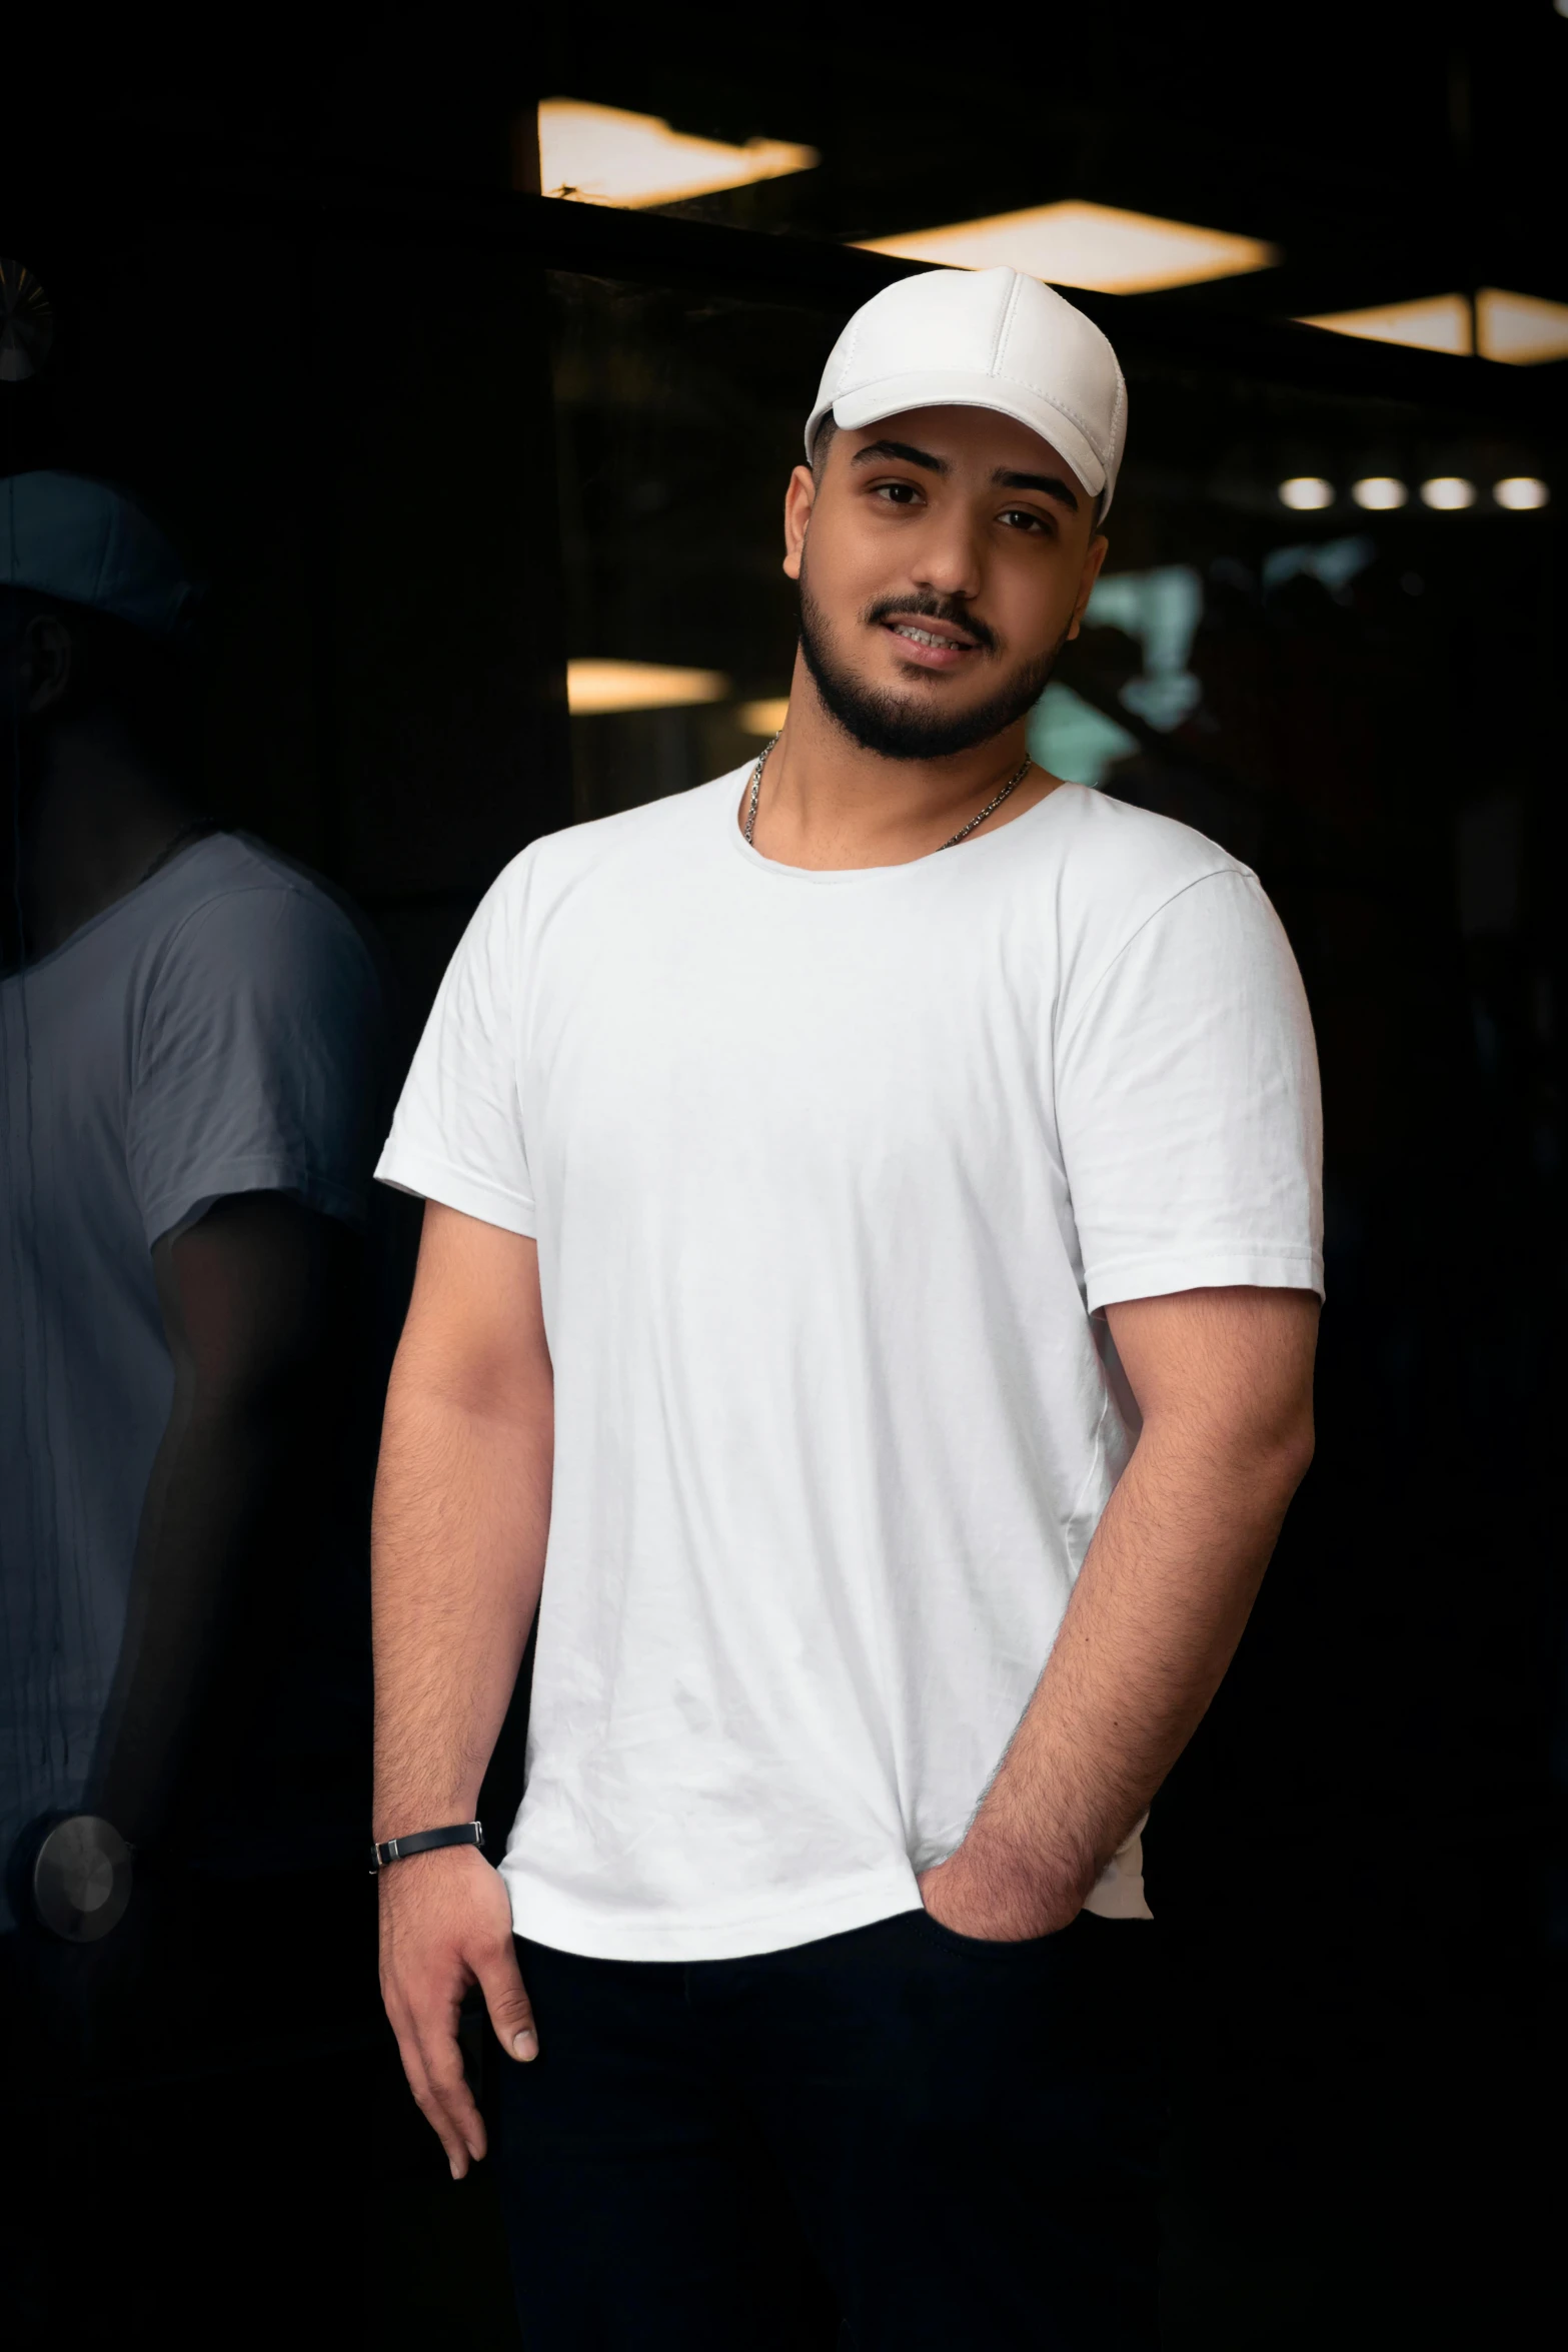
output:
M 1077 202 L 999 212 L 985 221 L 950 221 L 945 228 L 914 228 L 903 238 L 870 238 L 865 249 L 961 270 L 990 270 L 1004 263 L 1058 287 L 1093 287 L 1098 294 L 1194 287 L 1208 278 L 1237 278 L 1241 270 L 1265 270 L 1279 261 L 1276 249 L 1260 245 L 1258 238 L 1232 238 L 1225 228 L 1194 228 L 1190 221 L 1161 221 L 1150 212 Z

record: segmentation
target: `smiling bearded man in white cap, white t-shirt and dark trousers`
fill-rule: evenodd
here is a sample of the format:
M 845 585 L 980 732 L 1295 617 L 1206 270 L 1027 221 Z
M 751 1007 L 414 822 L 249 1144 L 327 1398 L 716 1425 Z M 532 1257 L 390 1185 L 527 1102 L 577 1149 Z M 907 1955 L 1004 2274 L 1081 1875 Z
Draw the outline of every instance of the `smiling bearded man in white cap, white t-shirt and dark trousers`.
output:
M 835 348 L 755 771 L 536 842 L 381 1174 L 383 1987 L 531 2347 L 1152 2340 L 1138 1832 L 1312 1449 L 1300 981 L 1213 842 L 1034 769 L 1126 393 L 1011 270 Z M 1241 1858 L 1239 1858 L 1241 1867 Z M 515 1933 L 512 1933 L 515 1931 Z

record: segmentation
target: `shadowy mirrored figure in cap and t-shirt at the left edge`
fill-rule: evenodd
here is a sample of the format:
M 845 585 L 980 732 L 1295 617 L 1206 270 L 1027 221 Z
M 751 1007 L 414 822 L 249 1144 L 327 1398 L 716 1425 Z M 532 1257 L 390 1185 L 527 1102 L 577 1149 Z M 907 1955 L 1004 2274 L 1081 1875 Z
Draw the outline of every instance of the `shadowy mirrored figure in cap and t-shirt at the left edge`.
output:
M 287 2053 L 301 1889 L 320 1997 L 367 1802 L 381 983 L 205 814 L 195 607 L 134 499 L 0 482 L 0 1969 L 40 2324 L 54 2227 L 136 2241 L 169 2145 L 233 2209 L 233 2082 L 197 2150 L 160 2070 Z

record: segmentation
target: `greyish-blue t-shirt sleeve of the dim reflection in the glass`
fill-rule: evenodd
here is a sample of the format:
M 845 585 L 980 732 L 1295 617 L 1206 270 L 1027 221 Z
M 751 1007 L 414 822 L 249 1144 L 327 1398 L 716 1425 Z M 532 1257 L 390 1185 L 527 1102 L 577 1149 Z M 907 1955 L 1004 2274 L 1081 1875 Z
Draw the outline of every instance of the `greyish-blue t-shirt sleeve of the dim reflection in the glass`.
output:
M 195 908 L 134 1042 L 127 1164 L 148 1247 L 230 1192 L 360 1223 L 383 1054 L 376 967 L 329 898 L 280 882 Z

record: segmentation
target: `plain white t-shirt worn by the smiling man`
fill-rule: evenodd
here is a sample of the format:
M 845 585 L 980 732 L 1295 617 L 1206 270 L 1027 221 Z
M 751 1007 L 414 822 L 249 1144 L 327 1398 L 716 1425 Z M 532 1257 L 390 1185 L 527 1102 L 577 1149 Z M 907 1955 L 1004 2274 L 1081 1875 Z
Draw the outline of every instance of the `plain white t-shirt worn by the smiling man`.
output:
M 755 851 L 745 771 L 480 906 L 378 1174 L 538 1237 L 555 1496 L 520 1933 L 724 1959 L 919 1907 L 1135 1439 L 1105 1317 L 1321 1289 L 1258 880 L 1060 786 L 907 866 Z M 1143 1917 L 1133 1842 L 1091 1907 Z

